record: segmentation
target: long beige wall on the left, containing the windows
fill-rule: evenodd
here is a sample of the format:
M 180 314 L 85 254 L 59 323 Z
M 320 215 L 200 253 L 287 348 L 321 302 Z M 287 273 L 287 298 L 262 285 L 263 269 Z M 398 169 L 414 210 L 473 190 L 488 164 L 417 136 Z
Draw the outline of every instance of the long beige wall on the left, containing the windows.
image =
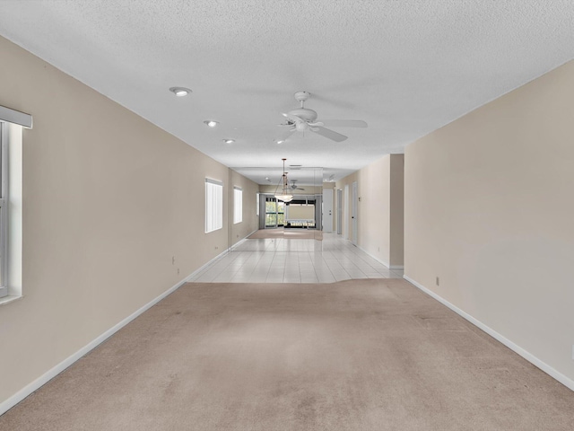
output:
M 24 297 L 0 307 L 2 402 L 228 248 L 230 172 L 2 38 L 0 64 L 0 105 L 34 119 Z M 205 177 L 226 185 L 224 227 L 208 234 Z M 248 190 L 242 235 L 257 186 L 233 182 Z

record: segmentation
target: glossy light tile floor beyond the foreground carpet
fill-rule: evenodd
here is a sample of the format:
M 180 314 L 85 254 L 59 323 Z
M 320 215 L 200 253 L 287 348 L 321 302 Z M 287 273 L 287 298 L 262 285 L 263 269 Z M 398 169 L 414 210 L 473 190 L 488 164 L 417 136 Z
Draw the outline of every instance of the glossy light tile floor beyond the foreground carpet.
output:
M 353 278 L 402 278 L 367 253 L 325 233 L 323 241 L 259 239 L 241 242 L 189 281 L 200 283 L 334 283 Z

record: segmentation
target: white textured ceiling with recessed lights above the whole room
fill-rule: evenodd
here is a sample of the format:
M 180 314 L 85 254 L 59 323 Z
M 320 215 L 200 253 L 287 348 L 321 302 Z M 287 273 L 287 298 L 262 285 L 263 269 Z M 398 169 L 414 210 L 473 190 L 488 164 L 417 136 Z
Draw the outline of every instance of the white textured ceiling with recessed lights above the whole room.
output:
M 340 179 L 567 62 L 574 2 L 2 0 L 0 34 L 265 184 L 282 157 Z M 275 144 L 298 91 L 369 128 Z

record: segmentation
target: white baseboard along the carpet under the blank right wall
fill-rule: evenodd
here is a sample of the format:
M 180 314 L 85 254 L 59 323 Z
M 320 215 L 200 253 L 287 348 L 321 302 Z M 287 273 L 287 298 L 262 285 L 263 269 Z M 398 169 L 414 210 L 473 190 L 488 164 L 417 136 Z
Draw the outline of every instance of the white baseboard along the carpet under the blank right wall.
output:
M 456 312 L 459 316 L 465 318 L 467 321 L 470 321 L 474 326 L 476 326 L 477 328 L 486 332 L 493 339 L 497 339 L 498 341 L 500 341 L 500 343 L 502 343 L 506 347 L 509 347 L 509 349 L 513 350 L 518 355 L 524 357 L 526 359 L 526 361 L 530 362 L 532 365 L 537 366 L 542 371 L 544 371 L 544 373 L 550 375 L 553 379 L 562 383 L 564 386 L 569 388 L 571 391 L 574 391 L 574 380 L 570 379 L 569 377 L 565 376 L 564 374 L 561 374 L 559 371 L 552 368 L 552 366 L 544 363 L 543 361 L 538 359 L 536 356 L 534 356 L 530 352 L 526 351 L 524 348 L 517 346 L 517 344 L 513 343 L 512 341 L 510 341 L 506 337 L 500 335 L 496 330 L 492 330 L 490 327 L 486 326 L 482 321 L 478 321 L 478 320 L 474 319 L 473 316 L 471 316 L 467 312 L 462 311 L 456 305 L 449 303 L 446 299 L 435 294 L 434 292 L 432 292 L 427 287 L 422 286 L 420 283 L 414 281 L 410 277 L 407 277 L 407 276 L 403 276 L 403 277 L 406 281 L 413 284 L 413 286 L 418 287 L 419 289 L 422 290 L 422 292 L 424 292 L 427 295 L 430 295 L 432 298 L 439 301 L 439 303 L 446 305 L 450 310 L 452 310 L 453 312 Z

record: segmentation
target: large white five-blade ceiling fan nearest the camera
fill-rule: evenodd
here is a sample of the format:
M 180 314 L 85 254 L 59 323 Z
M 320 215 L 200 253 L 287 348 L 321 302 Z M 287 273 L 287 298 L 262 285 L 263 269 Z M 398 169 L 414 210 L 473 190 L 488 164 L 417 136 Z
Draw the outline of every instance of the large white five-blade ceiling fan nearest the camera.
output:
M 305 101 L 310 97 L 310 92 L 296 92 L 295 100 L 300 101 L 301 107 L 297 110 L 290 110 L 289 112 L 282 113 L 283 117 L 287 119 L 287 122 L 280 124 L 279 126 L 290 127 L 283 136 L 276 139 L 278 144 L 283 143 L 291 133 L 305 132 L 307 130 L 317 133 L 317 135 L 325 136 L 335 142 L 344 141 L 347 136 L 341 135 L 328 127 L 340 127 L 340 128 L 366 128 L 367 123 L 361 119 L 323 119 L 317 121 L 317 112 L 315 110 L 309 110 L 305 108 Z

